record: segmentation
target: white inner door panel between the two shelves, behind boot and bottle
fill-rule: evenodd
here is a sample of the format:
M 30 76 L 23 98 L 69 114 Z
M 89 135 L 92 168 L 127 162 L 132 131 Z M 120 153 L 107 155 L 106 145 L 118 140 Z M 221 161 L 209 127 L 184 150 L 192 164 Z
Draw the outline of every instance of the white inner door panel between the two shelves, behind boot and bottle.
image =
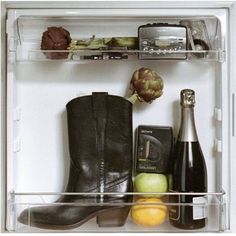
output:
M 170 77 L 167 72 L 170 63 L 158 64 L 149 67 L 163 77 L 164 94 L 159 101 L 148 107 L 141 104 L 134 108 L 133 126 L 171 125 L 176 134 L 179 124 L 179 91 L 186 86 L 193 88 L 197 100 L 195 117 L 198 134 L 208 167 L 209 192 L 215 192 L 215 134 L 214 129 L 209 130 L 216 96 L 212 90 L 215 87 L 214 65 L 202 65 L 203 75 L 199 76 L 199 65 L 174 64 L 173 76 Z M 13 139 L 20 142 L 20 150 L 12 157 L 15 159 L 15 187 L 10 188 L 16 192 L 63 191 L 69 164 L 65 104 L 80 94 L 91 94 L 92 91 L 108 91 L 109 94 L 124 96 L 132 72 L 140 66 L 139 63 L 107 63 L 92 69 L 91 65 L 75 64 L 46 66 L 45 63 L 37 63 L 17 66 L 19 84 L 16 109 L 20 109 L 21 120 L 18 121 Z M 191 78 L 185 77 L 183 71 L 194 75 Z M 202 93 L 207 95 L 207 99 L 200 95 Z M 29 181 L 31 179 L 36 182 Z

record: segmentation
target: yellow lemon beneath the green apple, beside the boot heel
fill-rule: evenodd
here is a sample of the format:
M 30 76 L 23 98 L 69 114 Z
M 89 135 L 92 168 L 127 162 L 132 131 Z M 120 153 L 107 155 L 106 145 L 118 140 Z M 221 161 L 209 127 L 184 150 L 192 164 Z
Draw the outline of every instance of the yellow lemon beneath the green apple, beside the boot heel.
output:
M 131 208 L 131 217 L 134 223 L 141 226 L 157 226 L 165 222 L 167 207 L 160 199 L 140 198 L 136 203 L 138 204 Z M 145 205 L 141 203 L 145 203 Z

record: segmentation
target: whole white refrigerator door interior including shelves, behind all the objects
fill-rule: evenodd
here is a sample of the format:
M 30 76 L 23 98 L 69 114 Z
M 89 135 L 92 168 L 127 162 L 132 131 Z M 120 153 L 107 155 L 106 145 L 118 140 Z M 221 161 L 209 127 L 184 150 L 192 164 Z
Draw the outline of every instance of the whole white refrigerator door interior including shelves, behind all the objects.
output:
M 174 23 L 182 19 L 204 20 L 211 43 L 209 51 L 186 60 L 139 60 L 135 50 L 125 60 L 83 60 L 94 51 L 68 51 L 64 60 L 47 59 L 40 50 L 42 33 L 62 26 L 72 39 L 137 37 L 147 23 Z M 71 9 L 9 10 L 7 69 L 7 229 L 13 232 L 46 232 L 25 226 L 17 217 L 25 208 L 53 204 L 69 175 L 66 104 L 92 92 L 128 97 L 135 70 L 155 70 L 164 81 L 163 95 L 151 104 L 133 106 L 133 128 L 138 125 L 180 124 L 179 93 L 196 93 L 195 121 L 208 172 L 207 225 L 198 231 L 227 229 L 229 163 L 227 11 L 224 9 Z M 97 52 L 96 52 L 97 53 Z M 201 56 L 199 57 L 198 55 Z M 203 55 L 203 56 L 202 56 Z M 135 194 L 135 193 L 134 193 Z M 168 196 L 168 193 L 166 194 Z M 167 198 L 168 199 L 168 198 Z M 168 206 L 168 200 L 166 201 Z M 74 205 L 76 207 L 76 205 Z M 135 225 L 130 216 L 125 226 L 100 228 L 92 219 L 72 232 L 177 232 L 166 222 L 154 228 Z M 54 232 L 54 231 L 52 231 Z M 191 231 L 192 232 L 192 231 Z

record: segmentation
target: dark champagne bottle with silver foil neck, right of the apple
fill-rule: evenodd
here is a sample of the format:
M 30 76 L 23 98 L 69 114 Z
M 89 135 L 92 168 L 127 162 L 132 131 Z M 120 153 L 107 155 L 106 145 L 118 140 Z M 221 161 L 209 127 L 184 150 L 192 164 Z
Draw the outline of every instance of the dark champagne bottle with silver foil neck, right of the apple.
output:
M 204 193 L 207 192 L 207 169 L 194 122 L 195 93 L 191 89 L 184 89 L 180 96 L 182 117 L 175 145 L 172 191 Z M 176 203 L 169 211 L 173 226 L 181 229 L 199 229 L 205 226 L 205 208 L 197 205 L 204 205 L 204 195 L 175 195 L 171 199 Z

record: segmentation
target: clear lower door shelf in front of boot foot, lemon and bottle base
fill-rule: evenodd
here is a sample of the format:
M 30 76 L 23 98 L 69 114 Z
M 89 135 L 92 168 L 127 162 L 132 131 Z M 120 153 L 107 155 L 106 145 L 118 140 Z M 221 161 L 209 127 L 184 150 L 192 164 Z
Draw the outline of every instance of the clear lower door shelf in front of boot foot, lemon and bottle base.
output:
M 145 195 L 153 195 L 157 193 L 145 193 Z M 144 227 L 134 223 L 132 220 L 131 214 L 129 213 L 126 223 L 121 227 L 99 227 L 96 222 L 96 216 L 79 227 L 75 227 L 70 230 L 65 230 L 63 232 L 219 232 L 225 230 L 225 202 L 224 202 L 224 192 L 218 193 L 177 193 L 177 192 L 168 192 L 168 193 L 158 193 L 162 194 L 162 202 L 151 202 L 151 203 L 138 203 L 135 200 L 142 197 L 143 193 L 50 193 L 50 192 L 37 192 L 37 193 L 10 193 L 9 208 L 8 208 L 8 230 L 13 232 L 56 232 L 57 228 L 54 230 L 40 229 L 33 226 L 31 222 L 32 216 L 32 207 L 47 207 L 53 208 L 58 207 L 133 207 L 133 206 L 145 206 L 153 207 L 155 205 L 166 206 L 166 217 L 163 224 L 154 227 Z M 120 196 L 130 196 L 133 197 L 131 202 L 117 202 L 114 200 L 107 200 L 104 202 L 99 202 L 95 199 L 98 199 L 99 196 L 106 196 L 106 199 Z M 204 203 L 180 203 L 177 204 L 171 201 L 171 196 L 204 196 Z M 77 200 L 76 202 L 55 202 L 55 199 L 58 199 L 62 196 L 74 196 L 80 197 L 82 200 Z M 86 198 L 85 198 L 86 196 Z M 96 198 L 97 197 L 97 198 Z M 54 200 L 52 200 L 54 199 Z M 92 200 L 91 200 L 92 199 Z M 172 226 L 169 222 L 169 209 L 173 206 L 184 206 L 184 207 L 198 207 L 204 210 L 206 214 L 206 225 L 204 228 L 197 230 L 182 230 L 177 229 Z M 70 208 L 70 209 L 71 209 Z M 17 219 L 23 210 L 27 209 L 28 214 L 28 224 L 24 225 L 20 223 Z M 209 217 L 209 216 L 214 217 Z

